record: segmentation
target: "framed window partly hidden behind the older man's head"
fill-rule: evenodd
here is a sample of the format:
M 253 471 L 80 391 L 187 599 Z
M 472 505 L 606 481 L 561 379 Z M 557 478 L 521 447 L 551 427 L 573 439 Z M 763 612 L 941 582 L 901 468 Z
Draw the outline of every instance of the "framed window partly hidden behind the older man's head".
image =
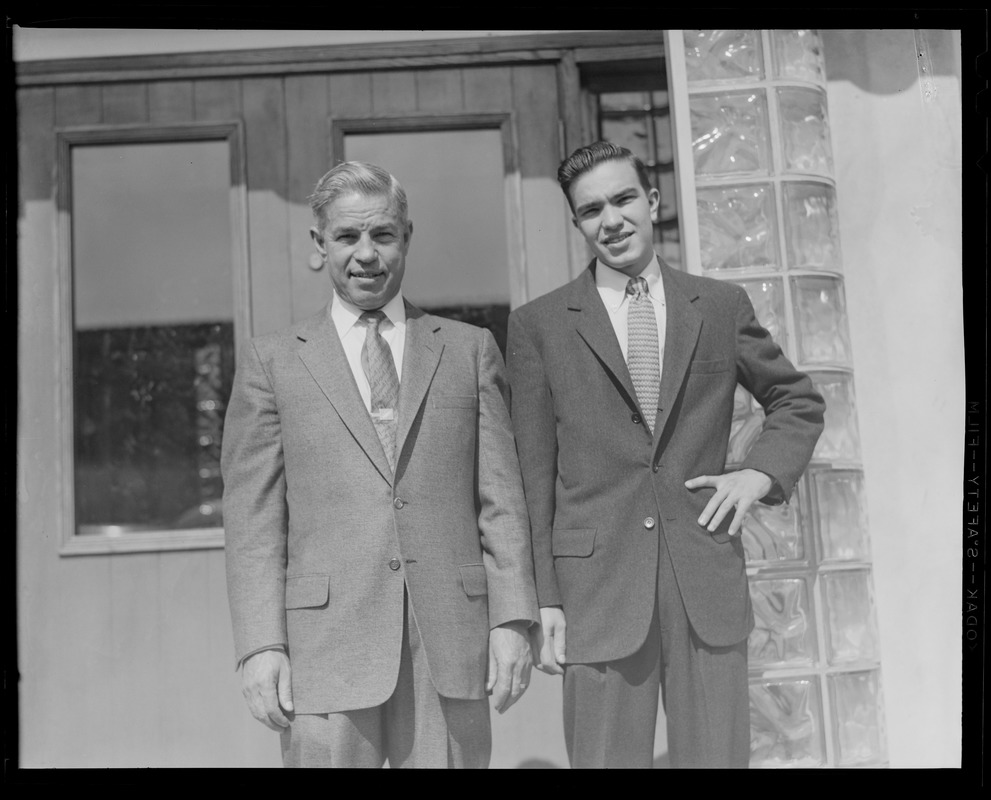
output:
M 503 354 L 522 244 L 511 226 L 505 115 L 338 121 L 339 158 L 387 169 L 413 221 L 403 295 L 438 316 L 488 328 Z M 510 158 L 512 158 L 510 156 Z

